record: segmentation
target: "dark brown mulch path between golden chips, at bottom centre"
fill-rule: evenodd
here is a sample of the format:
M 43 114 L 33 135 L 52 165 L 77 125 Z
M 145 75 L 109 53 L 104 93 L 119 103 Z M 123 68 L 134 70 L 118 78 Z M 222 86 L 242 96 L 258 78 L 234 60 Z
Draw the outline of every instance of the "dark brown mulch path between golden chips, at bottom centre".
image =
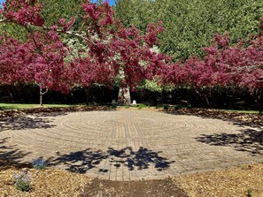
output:
M 163 180 L 112 181 L 95 178 L 82 197 L 188 197 L 172 178 Z

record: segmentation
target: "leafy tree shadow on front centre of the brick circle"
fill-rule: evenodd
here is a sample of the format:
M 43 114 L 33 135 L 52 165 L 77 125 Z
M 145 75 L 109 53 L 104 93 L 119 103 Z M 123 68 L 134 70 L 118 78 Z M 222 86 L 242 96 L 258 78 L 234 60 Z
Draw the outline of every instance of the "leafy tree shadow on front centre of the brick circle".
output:
M 108 148 L 106 152 L 101 150 L 92 151 L 90 148 L 82 151 L 72 152 L 61 155 L 57 153 L 57 158 L 50 158 L 48 163 L 52 165 L 64 165 L 66 170 L 73 172 L 86 173 L 89 170 L 106 173 L 112 166 L 116 168 L 128 168 L 128 170 L 143 170 L 150 166 L 156 170 L 167 170 L 171 163 L 165 157 L 160 156 L 161 152 L 154 152 L 148 148 L 122 148 L 116 150 Z

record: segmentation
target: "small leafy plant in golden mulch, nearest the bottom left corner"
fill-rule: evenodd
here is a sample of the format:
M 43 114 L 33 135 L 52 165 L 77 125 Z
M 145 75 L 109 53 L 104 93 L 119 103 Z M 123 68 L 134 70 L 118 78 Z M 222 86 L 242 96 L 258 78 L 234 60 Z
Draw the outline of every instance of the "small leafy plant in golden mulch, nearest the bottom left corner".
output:
M 14 175 L 14 186 L 22 191 L 28 192 L 31 189 L 30 178 L 27 170 L 21 170 L 19 174 Z

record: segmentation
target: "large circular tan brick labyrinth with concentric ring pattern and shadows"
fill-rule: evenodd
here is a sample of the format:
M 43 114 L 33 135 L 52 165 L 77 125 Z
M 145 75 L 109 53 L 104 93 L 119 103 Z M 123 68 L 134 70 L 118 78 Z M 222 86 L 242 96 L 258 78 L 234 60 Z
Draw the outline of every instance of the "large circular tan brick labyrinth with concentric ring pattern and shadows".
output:
M 112 180 L 263 161 L 262 144 L 250 135 L 262 127 L 219 119 L 116 110 L 6 117 L 0 124 L 0 156 L 19 162 L 43 157 L 50 166 Z

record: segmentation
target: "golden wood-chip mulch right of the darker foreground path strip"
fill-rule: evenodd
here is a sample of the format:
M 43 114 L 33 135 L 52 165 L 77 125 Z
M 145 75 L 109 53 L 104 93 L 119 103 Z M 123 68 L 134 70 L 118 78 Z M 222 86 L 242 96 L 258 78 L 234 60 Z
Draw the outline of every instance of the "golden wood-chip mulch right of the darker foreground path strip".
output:
M 191 197 L 262 197 L 263 163 L 184 175 L 173 180 Z

